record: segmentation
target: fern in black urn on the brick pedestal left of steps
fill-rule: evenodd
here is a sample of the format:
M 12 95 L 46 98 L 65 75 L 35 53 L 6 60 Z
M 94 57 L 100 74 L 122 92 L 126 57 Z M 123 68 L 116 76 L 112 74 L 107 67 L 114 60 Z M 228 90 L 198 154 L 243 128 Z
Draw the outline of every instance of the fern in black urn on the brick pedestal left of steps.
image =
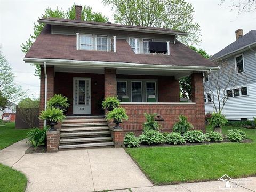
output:
M 51 127 L 49 131 L 56 131 L 54 126 L 58 124 L 58 121 L 62 122 L 64 118 L 63 110 L 55 107 L 48 107 L 45 111 L 41 111 L 39 116 L 40 120 L 47 121 L 47 125 Z

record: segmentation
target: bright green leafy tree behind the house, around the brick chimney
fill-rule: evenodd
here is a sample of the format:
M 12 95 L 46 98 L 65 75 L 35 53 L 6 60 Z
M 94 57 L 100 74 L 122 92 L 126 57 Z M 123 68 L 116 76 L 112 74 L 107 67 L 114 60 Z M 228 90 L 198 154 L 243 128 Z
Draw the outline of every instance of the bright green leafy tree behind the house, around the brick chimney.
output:
M 75 4 L 73 4 L 66 12 L 58 7 L 52 10 L 50 7 L 45 9 L 44 14 L 41 15 L 41 18 L 66 18 L 66 19 L 75 19 L 76 17 L 76 10 Z M 40 17 L 39 17 L 40 18 Z M 104 17 L 102 13 L 93 12 L 92 7 L 84 6 L 82 10 L 82 20 L 86 21 L 97 21 L 97 22 L 107 22 L 108 18 Z M 41 33 L 42 29 L 44 28 L 44 23 L 36 23 L 34 22 L 34 34 L 30 35 L 30 38 L 26 41 L 26 43 L 22 43 L 21 51 L 27 53 L 30 47 L 33 45 L 35 39 Z M 40 65 L 35 65 L 35 76 L 40 76 Z

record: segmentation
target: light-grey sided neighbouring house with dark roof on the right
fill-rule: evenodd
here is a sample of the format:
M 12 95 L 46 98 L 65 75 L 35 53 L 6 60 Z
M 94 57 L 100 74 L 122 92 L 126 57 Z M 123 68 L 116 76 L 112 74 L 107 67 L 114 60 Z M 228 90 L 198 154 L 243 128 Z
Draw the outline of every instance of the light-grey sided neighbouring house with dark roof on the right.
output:
M 252 120 L 256 116 L 256 30 L 245 35 L 242 29 L 236 30 L 236 41 L 210 58 L 211 61 L 219 59 L 227 62 L 229 70 L 238 76 L 235 87 L 223 90 L 229 97 L 223 114 L 230 120 Z M 214 111 L 211 97 L 205 94 L 205 113 Z

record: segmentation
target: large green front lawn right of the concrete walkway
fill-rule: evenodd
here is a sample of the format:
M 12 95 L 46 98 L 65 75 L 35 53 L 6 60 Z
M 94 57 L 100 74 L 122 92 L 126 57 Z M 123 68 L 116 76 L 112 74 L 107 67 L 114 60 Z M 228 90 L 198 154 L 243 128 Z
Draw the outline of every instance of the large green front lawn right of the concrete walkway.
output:
M 225 134 L 229 129 L 223 127 Z M 242 129 L 252 143 L 214 143 L 211 145 L 128 148 L 126 151 L 156 185 L 217 180 L 256 175 L 256 130 Z M 207 127 L 207 131 L 210 131 Z

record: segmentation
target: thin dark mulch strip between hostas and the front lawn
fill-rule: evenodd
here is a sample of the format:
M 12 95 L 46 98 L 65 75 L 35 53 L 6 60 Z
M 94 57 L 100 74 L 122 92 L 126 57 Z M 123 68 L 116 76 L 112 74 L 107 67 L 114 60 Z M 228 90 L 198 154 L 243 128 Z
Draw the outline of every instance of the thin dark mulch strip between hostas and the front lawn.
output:
M 245 139 L 241 143 L 251 143 L 251 139 Z M 224 139 L 222 142 L 204 142 L 204 143 L 184 143 L 183 145 L 173 145 L 173 144 L 155 144 L 155 145 L 146 145 L 140 143 L 140 147 L 177 147 L 177 146 L 195 146 L 195 145 L 211 145 L 216 143 L 231 143 L 230 141 Z M 232 143 L 239 143 L 239 142 L 232 142 Z

